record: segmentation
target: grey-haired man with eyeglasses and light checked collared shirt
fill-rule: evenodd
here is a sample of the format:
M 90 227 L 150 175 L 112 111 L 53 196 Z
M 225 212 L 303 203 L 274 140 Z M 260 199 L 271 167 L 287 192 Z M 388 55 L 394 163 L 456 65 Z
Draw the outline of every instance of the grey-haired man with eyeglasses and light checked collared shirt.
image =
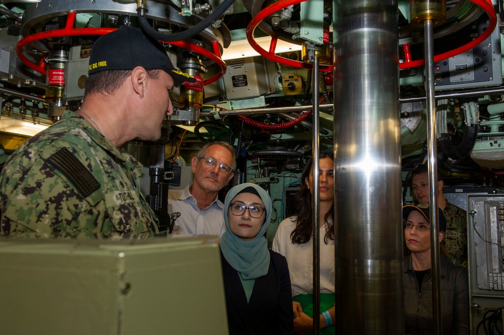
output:
M 179 236 L 221 236 L 224 204 L 219 191 L 234 176 L 235 151 L 226 142 L 206 144 L 191 161 L 194 179 L 182 190 L 170 190 L 168 203 L 180 212 Z

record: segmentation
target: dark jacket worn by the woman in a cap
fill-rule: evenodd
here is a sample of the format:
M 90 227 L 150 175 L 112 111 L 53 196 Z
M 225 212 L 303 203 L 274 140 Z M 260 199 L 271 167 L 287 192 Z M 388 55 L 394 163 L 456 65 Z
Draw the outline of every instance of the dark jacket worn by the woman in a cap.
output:
M 439 272 L 443 334 L 469 335 L 467 270 L 440 257 Z M 411 255 L 409 255 L 404 259 L 403 283 L 406 334 L 433 334 L 431 272 L 428 271 L 425 274 L 420 294 Z

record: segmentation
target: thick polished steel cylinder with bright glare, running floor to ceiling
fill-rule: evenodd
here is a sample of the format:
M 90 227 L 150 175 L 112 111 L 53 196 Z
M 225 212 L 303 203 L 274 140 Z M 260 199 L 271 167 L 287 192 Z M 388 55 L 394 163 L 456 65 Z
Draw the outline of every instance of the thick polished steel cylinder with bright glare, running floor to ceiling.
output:
M 404 334 L 398 4 L 333 3 L 336 333 Z

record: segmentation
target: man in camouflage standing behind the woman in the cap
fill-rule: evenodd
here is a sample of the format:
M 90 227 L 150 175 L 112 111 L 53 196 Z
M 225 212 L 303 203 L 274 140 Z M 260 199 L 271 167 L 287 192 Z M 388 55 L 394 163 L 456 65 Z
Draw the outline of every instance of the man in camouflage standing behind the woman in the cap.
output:
M 450 204 L 443 193 L 444 182 L 437 176 L 437 206 L 443 211 L 447 221 L 443 244 L 449 259 L 455 265 L 468 267 L 467 262 L 467 213 Z M 429 175 L 425 165 L 411 171 L 411 189 L 419 203 L 429 202 Z

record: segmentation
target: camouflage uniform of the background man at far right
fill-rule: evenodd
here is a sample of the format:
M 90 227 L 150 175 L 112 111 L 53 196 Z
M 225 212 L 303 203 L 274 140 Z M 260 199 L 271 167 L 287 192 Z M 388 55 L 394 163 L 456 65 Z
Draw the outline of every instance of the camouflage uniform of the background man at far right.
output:
M 467 269 L 467 213 L 446 200 L 443 215 L 446 218 L 443 243 L 449 260 L 455 265 L 464 266 Z

